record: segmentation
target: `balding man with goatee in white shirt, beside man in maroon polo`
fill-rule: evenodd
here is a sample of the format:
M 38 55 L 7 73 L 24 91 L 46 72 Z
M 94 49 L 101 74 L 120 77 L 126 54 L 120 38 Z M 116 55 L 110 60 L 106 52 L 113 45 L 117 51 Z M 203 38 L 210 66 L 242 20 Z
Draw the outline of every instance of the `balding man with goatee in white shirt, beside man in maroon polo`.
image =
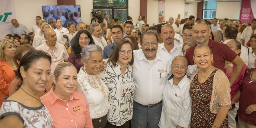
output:
M 164 43 L 161 43 L 158 46 L 158 51 L 162 51 L 167 55 L 170 55 L 174 58 L 177 55 L 182 55 L 182 48 L 174 43 L 175 31 L 170 24 L 165 24 L 161 28 L 161 37 Z

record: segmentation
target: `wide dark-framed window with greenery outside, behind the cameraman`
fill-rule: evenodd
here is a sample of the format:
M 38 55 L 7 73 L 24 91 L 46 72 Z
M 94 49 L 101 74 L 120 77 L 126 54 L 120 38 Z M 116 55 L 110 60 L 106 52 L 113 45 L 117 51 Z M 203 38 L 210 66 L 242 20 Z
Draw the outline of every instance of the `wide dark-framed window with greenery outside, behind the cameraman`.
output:
M 128 0 L 93 0 L 93 10 L 101 10 L 102 17 L 109 14 L 109 19 L 124 22 L 128 16 Z

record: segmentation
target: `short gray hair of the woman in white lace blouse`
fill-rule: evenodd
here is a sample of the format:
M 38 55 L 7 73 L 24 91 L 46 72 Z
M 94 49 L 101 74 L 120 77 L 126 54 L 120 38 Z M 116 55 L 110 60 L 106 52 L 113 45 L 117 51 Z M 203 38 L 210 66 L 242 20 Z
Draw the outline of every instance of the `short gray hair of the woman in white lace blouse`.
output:
M 81 59 L 85 59 L 85 62 L 87 62 L 88 59 L 90 58 L 91 53 L 94 51 L 102 52 L 102 49 L 98 45 L 85 46 L 81 51 Z

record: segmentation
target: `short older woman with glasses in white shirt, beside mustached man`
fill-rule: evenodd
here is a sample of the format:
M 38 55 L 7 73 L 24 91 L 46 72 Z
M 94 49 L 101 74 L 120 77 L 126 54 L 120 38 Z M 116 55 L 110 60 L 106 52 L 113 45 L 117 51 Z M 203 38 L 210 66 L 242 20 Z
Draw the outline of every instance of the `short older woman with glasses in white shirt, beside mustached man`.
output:
M 189 128 L 191 116 L 190 80 L 186 76 L 187 59 L 176 56 L 171 64 L 172 75 L 163 91 L 160 128 Z

